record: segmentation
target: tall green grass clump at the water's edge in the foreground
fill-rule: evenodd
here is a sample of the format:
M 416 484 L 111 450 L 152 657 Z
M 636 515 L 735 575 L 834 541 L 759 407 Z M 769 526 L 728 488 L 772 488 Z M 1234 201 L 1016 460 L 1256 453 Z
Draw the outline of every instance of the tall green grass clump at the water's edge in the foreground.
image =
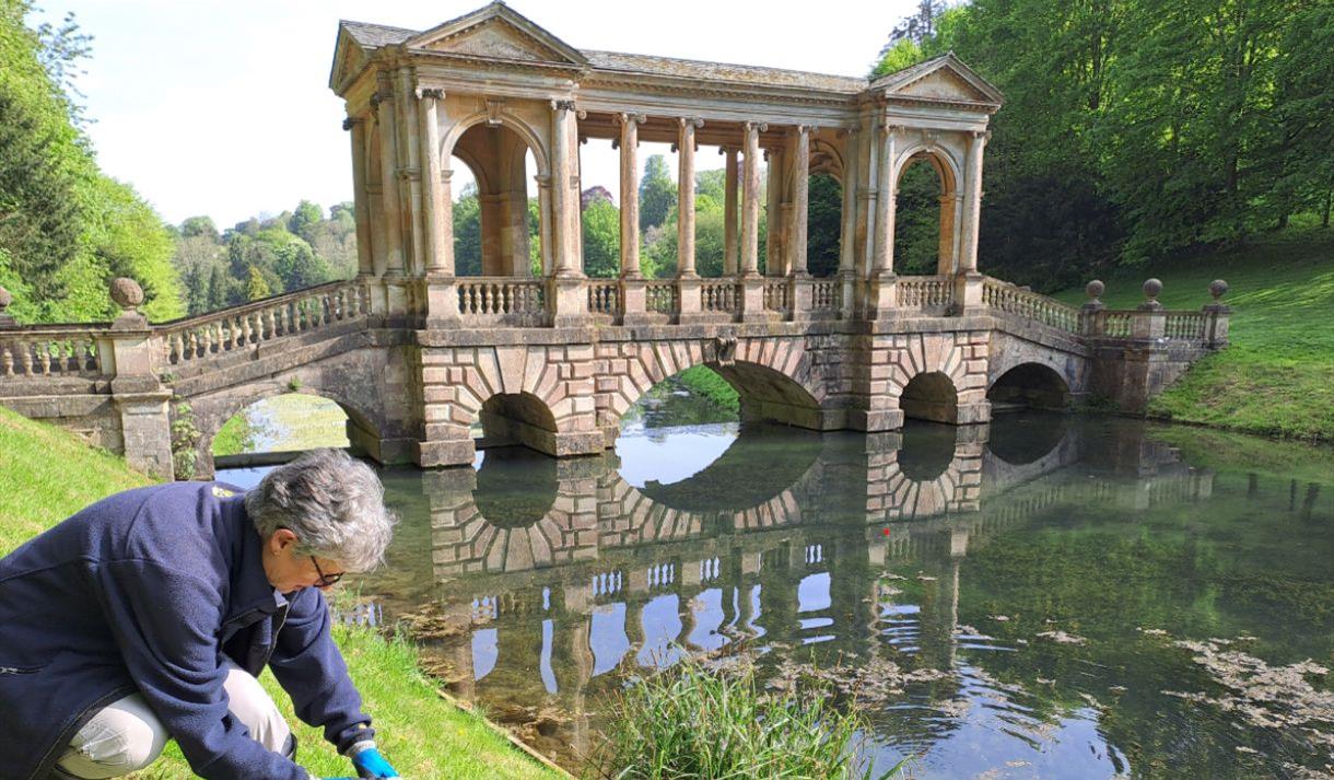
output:
M 687 657 L 620 695 L 598 772 L 615 780 L 870 777 L 858 773 L 864 720 L 835 711 L 827 693 L 795 685 L 766 693 L 750 668 L 710 670 Z

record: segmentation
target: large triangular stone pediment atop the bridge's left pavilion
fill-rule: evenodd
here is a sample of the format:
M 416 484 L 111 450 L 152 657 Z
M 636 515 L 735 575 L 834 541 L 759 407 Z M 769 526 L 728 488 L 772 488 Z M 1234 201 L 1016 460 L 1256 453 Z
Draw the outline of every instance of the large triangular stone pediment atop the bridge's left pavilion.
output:
M 579 49 L 500 3 L 446 21 L 410 39 L 406 45 L 411 49 L 498 60 L 587 64 Z

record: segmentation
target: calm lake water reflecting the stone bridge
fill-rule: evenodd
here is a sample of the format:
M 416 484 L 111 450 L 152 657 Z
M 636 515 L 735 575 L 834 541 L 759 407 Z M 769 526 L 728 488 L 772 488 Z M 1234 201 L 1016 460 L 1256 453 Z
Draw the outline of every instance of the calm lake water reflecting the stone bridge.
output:
M 1059 415 L 670 427 L 671 405 L 600 458 L 386 470 L 403 522 L 352 588 L 570 767 L 627 677 L 716 652 L 828 677 L 914 777 L 1329 776 L 1322 455 Z

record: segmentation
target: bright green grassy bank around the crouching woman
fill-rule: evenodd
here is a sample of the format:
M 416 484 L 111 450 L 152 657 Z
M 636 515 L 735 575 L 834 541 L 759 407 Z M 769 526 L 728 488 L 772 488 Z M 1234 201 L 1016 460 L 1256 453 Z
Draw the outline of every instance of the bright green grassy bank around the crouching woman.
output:
M 93 450 L 76 437 L 0 407 L 0 556 L 85 505 L 120 490 L 149 483 L 123 459 Z M 416 650 L 379 633 L 340 626 L 352 678 L 380 729 L 383 752 L 406 777 L 558 777 L 482 719 L 440 699 L 419 672 Z M 316 776 L 351 773 L 316 729 L 300 724 L 272 676 L 264 684 L 284 708 L 301 744 L 301 764 Z M 137 780 L 192 777 L 175 745 Z

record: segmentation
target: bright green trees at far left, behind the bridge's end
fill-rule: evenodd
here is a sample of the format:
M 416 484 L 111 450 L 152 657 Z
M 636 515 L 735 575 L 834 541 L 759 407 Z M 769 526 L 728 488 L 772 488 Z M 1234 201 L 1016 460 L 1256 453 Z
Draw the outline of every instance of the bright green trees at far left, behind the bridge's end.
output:
M 28 0 L 0 0 L 0 284 L 24 322 L 107 319 L 115 276 L 144 288 L 143 311 L 184 311 L 161 219 L 105 176 L 80 127 L 72 75 L 88 37 L 67 17 L 27 27 Z

